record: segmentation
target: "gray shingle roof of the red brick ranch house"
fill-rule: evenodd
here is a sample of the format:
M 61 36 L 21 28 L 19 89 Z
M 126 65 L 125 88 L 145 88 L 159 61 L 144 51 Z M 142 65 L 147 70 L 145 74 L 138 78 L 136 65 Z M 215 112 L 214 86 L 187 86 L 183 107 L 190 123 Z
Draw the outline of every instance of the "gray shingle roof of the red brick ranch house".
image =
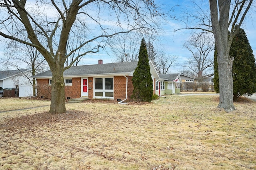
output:
M 86 76 L 97 74 L 122 74 L 130 73 L 137 67 L 138 62 L 124 62 L 124 63 L 108 63 L 108 64 L 93 64 L 72 66 L 64 71 L 64 76 Z M 51 77 L 50 70 L 32 76 L 34 78 Z

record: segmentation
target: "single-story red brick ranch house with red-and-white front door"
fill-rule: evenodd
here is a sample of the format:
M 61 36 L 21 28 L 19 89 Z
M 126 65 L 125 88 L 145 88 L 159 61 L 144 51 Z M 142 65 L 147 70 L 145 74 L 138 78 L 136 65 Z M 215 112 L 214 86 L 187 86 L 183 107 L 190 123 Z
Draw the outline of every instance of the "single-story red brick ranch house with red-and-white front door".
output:
M 138 62 L 109 63 L 72 66 L 64 71 L 65 97 L 109 100 L 130 100 L 133 91 L 132 75 Z M 155 93 L 156 79 L 159 75 L 150 61 L 153 90 Z M 37 95 L 51 98 L 52 72 L 50 70 L 35 76 Z

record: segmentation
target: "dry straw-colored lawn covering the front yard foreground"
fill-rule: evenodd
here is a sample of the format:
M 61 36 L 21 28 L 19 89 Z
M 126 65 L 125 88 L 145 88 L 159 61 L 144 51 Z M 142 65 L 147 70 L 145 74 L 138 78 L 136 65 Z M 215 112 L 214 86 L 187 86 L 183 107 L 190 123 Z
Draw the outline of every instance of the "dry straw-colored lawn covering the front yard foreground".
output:
M 226 113 L 218 96 L 174 95 L 66 104 L 62 115 L 43 113 L 49 106 L 0 113 L 0 169 L 256 169 L 256 103 L 234 104 Z

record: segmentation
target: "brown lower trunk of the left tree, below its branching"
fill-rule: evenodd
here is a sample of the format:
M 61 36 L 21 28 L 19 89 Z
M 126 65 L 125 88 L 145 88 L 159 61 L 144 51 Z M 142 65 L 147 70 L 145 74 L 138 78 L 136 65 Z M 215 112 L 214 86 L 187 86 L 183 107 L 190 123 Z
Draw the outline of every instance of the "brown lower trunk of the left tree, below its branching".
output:
M 63 71 L 63 66 L 57 66 L 52 70 L 52 97 L 49 111 L 52 114 L 66 113 Z

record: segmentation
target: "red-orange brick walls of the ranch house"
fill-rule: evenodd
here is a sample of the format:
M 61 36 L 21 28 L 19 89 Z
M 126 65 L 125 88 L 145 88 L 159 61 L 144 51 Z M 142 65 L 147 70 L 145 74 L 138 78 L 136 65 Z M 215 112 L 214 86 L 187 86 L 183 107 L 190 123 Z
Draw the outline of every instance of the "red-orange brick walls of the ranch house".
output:
M 128 77 L 127 101 L 131 100 L 133 85 L 132 76 Z M 156 79 L 153 80 L 154 93 L 156 89 Z M 51 86 L 49 79 L 37 79 L 38 97 L 51 98 Z M 65 97 L 81 97 L 81 78 L 72 78 L 72 86 L 65 86 Z M 88 77 L 88 98 L 93 98 L 93 77 Z M 126 98 L 126 77 L 114 76 L 114 100 Z

